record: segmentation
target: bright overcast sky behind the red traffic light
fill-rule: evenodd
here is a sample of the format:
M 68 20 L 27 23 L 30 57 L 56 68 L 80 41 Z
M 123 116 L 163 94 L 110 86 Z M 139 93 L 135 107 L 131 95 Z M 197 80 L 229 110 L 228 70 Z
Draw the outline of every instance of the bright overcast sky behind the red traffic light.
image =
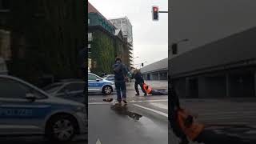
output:
M 133 26 L 134 63 L 148 65 L 168 57 L 168 14 L 152 21 L 151 8 L 168 10 L 168 0 L 89 0 L 106 18 L 127 16 Z

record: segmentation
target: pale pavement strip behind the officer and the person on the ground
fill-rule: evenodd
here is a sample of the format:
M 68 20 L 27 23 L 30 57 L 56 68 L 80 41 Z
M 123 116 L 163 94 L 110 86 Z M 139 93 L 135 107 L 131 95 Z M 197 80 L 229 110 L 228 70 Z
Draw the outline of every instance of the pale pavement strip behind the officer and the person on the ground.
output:
M 168 89 L 168 81 L 145 81 L 153 89 Z M 134 82 L 126 82 L 126 90 L 134 90 Z

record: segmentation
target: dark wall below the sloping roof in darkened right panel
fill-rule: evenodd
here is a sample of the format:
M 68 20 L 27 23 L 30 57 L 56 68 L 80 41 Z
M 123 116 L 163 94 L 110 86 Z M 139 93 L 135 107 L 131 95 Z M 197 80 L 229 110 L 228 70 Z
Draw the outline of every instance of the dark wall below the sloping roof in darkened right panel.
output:
M 256 98 L 256 70 L 222 71 L 173 80 L 180 98 Z

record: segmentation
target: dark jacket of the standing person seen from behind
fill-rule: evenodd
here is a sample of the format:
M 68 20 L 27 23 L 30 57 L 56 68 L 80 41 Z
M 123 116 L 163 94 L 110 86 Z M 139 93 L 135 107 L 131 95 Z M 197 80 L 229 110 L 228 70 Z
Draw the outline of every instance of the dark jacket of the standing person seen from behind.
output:
M 113 71 L 114 71 L 114 82 L 126 82 L 126 77 L 127 77 L 127 69 L 122 62 L 115 62 L 113 66 Z

